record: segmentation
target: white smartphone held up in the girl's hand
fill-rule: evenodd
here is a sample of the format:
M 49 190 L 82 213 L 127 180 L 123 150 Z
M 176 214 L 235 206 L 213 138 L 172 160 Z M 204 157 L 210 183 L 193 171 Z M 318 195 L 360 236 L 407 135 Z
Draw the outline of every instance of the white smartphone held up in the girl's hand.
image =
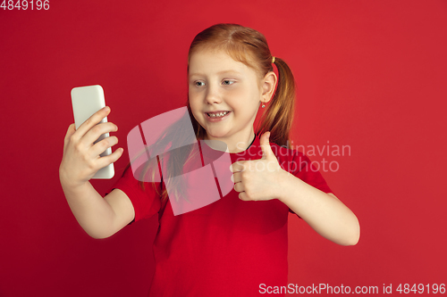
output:
M 87 87 L 73 87 L 72 88 L 72 106 L 74 115 L 74 124 L 76 129 L 80 125 L 89 119 L 95 112 L 99 111 L 101 108 L 105 107 L 104 90 L 101 86 L 87 86 Z M 101 120 L 101 123 L 107 121 L 107 117 Z M 103 140 L 108 137 L 109 134 L 105 133 L 94 142 Z M 109 147 L 100 156 L 104 157 L 112 153 L 112 149 Z M 97 170 L 97 173 L 92 178 L 102 178 L 108 179 L 114 177 L 114 163 L 111 163 L 105 168 Z

